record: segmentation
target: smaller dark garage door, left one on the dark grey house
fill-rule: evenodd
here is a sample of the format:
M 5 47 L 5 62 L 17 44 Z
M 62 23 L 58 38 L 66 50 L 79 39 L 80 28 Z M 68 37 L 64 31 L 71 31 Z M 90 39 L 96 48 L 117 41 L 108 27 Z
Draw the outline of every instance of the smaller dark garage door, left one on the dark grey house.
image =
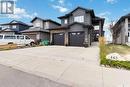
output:
M 53 34 L 53 44 L 54 45 L 64 45 L 64 33 Z

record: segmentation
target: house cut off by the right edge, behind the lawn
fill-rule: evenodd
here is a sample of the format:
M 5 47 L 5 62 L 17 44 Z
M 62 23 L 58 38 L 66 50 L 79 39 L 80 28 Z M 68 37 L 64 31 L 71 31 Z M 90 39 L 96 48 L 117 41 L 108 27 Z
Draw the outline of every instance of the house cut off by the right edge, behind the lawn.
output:
M 130 44 L 130 14 L 122 16 L 111 29 L 113 43 Z

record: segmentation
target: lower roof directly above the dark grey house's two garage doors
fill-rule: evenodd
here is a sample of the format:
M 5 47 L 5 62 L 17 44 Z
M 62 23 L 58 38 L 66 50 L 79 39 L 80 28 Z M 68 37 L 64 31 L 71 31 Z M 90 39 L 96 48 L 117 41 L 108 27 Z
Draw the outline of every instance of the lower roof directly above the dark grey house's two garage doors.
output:
M 92 25 L 88 25 L 88 24 L 84 24 L 84 23 L 79 23 L 79 22 L 73 22 L 71 24 L 66 24 L 66 25 L 63 25 L 63 26 L 56 27 L 56 28 L 51 28 L 49 30 L 69 29 L 69 27 L 72 26 L 72 25 L 74 25 L 74 24 L 80 24 L 83 27 L 93 28 Z

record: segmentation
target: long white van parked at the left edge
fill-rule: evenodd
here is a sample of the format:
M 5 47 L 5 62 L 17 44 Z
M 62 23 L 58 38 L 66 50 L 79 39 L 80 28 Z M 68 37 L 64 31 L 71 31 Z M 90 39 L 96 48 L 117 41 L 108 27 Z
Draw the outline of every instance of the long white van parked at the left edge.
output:
M 33 45 L 34 40 L 26 35 L 2 35 L 0 34 L 0 45 L 17 44 L 17 45 Z

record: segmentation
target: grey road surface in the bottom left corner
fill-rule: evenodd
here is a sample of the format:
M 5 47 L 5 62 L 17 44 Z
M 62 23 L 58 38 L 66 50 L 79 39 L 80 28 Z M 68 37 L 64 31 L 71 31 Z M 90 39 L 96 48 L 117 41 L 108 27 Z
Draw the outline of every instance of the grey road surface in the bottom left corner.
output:
M 47 78 L 0 65 L 0 87 L 69 87 Z

